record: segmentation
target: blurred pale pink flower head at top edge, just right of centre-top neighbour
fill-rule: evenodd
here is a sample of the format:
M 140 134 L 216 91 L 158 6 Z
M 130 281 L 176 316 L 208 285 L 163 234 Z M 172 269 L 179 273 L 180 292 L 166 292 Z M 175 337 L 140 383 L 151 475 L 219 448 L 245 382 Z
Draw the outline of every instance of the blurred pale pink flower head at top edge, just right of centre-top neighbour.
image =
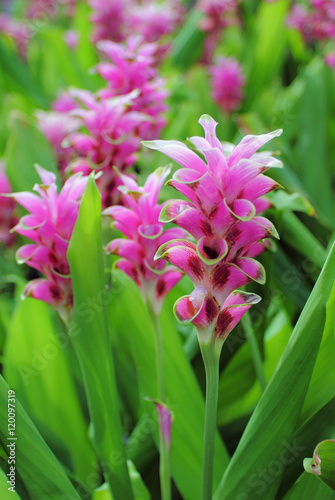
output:
M 147 42 L 155 42 L 172 33 L 182 22 L 185 10 L 178 0 L 157 3 L 146 0 L 129 11 L 131 33 L 140 34 Z

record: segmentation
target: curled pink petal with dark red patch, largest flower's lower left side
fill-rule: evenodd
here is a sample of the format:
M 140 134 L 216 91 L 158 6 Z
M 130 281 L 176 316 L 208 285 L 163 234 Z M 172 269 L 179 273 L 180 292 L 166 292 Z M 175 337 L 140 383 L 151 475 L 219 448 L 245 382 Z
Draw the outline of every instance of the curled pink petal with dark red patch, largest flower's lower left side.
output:
M 156 259 L 165 259 L 178 267 L 197 286 L 204 276 L 204 265 L 199 258 L 195 244 L 187 240 L 173 240 L 162 245 L 156 252 Z

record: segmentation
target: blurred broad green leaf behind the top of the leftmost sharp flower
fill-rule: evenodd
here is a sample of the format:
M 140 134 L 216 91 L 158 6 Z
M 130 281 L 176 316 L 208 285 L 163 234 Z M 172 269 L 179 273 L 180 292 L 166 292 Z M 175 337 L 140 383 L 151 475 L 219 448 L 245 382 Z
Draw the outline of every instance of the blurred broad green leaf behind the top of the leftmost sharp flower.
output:
M 34 167 L 36 163 L 58 178 L 53 152 L 41 132 L 19 112 L 12 113 L 9 129 L 5 160 L 13 191 L 31 191 L 35 183 L 41 182 Z

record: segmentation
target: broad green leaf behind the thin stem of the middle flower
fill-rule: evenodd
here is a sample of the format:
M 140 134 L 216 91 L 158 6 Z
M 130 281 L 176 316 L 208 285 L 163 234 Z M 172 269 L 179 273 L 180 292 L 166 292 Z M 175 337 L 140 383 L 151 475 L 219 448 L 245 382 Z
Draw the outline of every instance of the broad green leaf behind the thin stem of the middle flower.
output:
M 148 312 L 136 285 L 120 271 L 113 272 L 113 335 L 118 335 L 123 349 L 131 350 L 137 368 L 140 397 L 157 399 L 154 334 Z M 113 304 L 112 304 L 113 305 Z M 201 494 L 201 470 L 205 406 L 193 370 L 183 351 L 172 315 L 172 303 L 166 300 L 161 324 L 164 342 L 164 368 L 167 405 L 175 414 L 172 424 L 172 475 L 184 498 L 198 500 Z M 158 424 L 154 405 L 143 403 L 151 416 L 151 432 L 158 445 Z M 228 454 L 217 434 L 214 484 L 228 464 Z

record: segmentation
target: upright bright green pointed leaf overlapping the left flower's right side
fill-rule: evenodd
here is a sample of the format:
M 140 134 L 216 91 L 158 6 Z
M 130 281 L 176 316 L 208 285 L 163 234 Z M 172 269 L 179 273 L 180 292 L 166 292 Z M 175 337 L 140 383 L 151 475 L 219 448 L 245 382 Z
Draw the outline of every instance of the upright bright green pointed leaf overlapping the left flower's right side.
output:
M 93 445 L 115 500 L 132 499 L 121 432 L 113 353 L 109 342 L 102 241 L 101 196 L 87 183 L 68 250 L 74 309 L 69 332 L 80 360 Z

